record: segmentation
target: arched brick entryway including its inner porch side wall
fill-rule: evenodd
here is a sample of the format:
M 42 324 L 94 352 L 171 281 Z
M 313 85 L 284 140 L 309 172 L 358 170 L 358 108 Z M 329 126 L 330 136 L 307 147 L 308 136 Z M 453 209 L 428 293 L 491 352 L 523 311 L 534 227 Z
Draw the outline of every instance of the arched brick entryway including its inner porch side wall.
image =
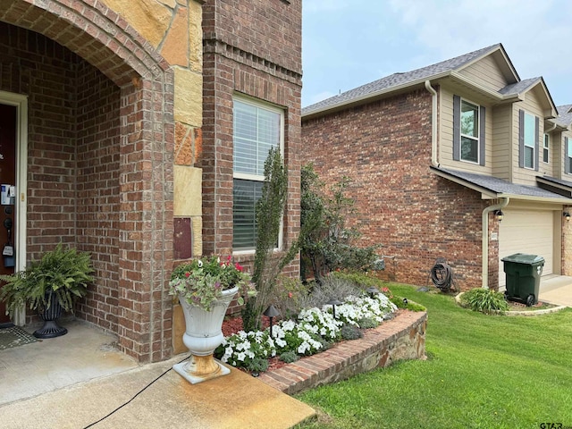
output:
M 169 64 L 97 0 L 0 0 L 0 21 L 16 35 L 9 43 L 25 46 L 14 50 L 12 63 L 1 64 L 0 89 L 29 96 L 30 115 L 44 115 L 31 118 L 29 126 L 28 257 L 38 257 L 58 240 L 90 251 L 97 282 L 80 305 L 80 317 L 116 332 L 120 347 L 139 361 L 169 357 L 172 304 L 165 285 L 172 267 L 174 139 Z M 32 52 L 26 68 L 23 57 Z M 61 87 L 70 90 L 52 97 L 61 109 L 35 97 L 38 88 L 50 87 L 41 58 L 70 73 Z M 46 130 L 46 112 L 65 125 Z M 51 191 L 63 196 L 60 204 L 46 198 Z M 55 206 L 59 217 L 51 216 Z

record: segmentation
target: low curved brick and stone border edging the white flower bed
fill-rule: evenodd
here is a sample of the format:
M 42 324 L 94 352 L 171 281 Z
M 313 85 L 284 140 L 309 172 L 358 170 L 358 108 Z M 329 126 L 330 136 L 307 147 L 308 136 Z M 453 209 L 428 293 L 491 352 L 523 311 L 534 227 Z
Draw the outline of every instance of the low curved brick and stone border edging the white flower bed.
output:
M 346 380 L 402 359 L 425 359 L 427 313 L 400 310 L 390 321 L 364 332 L 359 340 L 268 371 L 259 380 L 286 394 Z

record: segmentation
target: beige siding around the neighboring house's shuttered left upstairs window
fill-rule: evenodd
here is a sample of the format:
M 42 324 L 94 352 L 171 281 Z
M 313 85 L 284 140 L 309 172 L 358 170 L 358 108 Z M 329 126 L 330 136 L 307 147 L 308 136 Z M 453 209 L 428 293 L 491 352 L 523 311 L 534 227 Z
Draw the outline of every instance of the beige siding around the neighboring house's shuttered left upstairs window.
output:
M 441 88 L 441 121 L 440 132 L 441 147 L 439 149 L 439 163 L 444 168 L 452 168 L 454 170 L 465 170 L 467 172 L 475 172 L 478 174 L 492 174 L 492 108 L 484 105 L 486 108 L 485 125 L 485 161 L 484 166 L 479 164 L 467 163 L 465 161 L 453 161 L 453 93 L 447 88 Z M 463 97 L 462 94 L 455 94 L 470 103 L 479 105 L 470 97 Z

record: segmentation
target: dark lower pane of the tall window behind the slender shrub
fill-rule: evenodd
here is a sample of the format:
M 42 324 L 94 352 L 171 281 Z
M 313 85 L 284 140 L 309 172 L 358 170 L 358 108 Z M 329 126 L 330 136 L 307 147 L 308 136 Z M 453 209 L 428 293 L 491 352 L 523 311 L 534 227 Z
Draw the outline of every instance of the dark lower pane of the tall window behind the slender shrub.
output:
M 262 185 L 262 181 L 234 180 L 232 248 L 235 250 L 256 248 L 256 206 L 262 196 Z

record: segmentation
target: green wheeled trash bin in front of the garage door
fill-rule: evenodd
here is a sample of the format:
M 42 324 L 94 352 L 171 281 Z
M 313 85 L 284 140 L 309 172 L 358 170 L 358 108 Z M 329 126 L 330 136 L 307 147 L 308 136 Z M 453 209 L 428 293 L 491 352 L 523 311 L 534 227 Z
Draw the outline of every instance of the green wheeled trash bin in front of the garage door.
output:
M 511 301 L 524 302 L 533 306 L 538 302 L 540 276 L 543 274 L 544 258 L 526 253 L 516 253 L 503 257 L 504 272 L 507 276 L 505 295 Z

